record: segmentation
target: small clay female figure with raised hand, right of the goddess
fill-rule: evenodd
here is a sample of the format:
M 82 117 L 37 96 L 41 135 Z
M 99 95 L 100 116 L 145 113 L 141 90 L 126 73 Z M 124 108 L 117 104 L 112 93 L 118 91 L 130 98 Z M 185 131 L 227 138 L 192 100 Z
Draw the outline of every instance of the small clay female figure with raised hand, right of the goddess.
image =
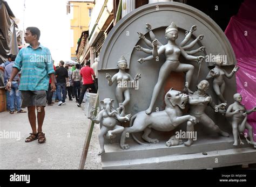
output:
M 206 76 L 206 80 L 214 78 L 213 90 L 215 91 L 216 95 L 219 98 L 219 103 L 227 103 L 226 99 L 223 97 L 226 85 L 224 81 L 224 76 L 226 76 L 227 78 L 232 78 L 235 72 L 237 72 L 239 69 L 238 66 L 235 66 L 231 73 L 228 74 L 227 71 L 221 67 L 224 62 L 223 60 L 223 57 L 217 55 L 214 60 L 215 67 L 211 69 L 208 75 Z

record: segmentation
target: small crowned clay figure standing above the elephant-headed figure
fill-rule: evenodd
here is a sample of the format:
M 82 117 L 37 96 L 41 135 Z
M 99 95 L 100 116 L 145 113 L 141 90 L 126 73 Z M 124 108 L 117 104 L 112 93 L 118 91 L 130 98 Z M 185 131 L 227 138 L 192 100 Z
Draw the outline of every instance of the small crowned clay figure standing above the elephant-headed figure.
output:
M 117 62 L 117 66 L 119 71 L 117 74 L 111 78 L 110 74 L 106 74 L 106 79 L 109 81 L 109 86 L 113 84 L 113 82 L 117 81 L 116 87 L 116 97 L 118 103 L 122 103 L 125 107 L 127 103 L 130 102 L 130 92 L 129 92 L 129 85 L 135 85 L 134 81 L 137 81 L 141 78 L 141 74 L 137 74 L 133 80 L 132 76 L 125 72 L 127 67 L 127 61 L 124 56 L 121 56 Z M 124 98 L 124 99 L 123 99 Z M 117 111 L 120 112 L 121 108 L 118 107 Z

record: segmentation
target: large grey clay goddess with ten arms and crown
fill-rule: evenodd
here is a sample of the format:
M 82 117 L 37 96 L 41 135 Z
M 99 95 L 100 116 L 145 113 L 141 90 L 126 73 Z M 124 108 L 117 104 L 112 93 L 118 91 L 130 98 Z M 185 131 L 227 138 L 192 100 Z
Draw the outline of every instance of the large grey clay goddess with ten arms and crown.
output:
M 184 89 L 188 92 L 192 92 L 189 89 L 189 86 L 192 80 L 194 66 L 192 66 L 191 64 L 180 63 L 179 56 L 181 54 L 185 57 L 186 60 L 198 61 L 200 63 L 204 60 L 204 56 L 192 56 L 189 54 L 194 54 L 196 52 L 203 51 L 204 47 L 200 47 L 199 49 L 196 49 L 188 53 L 185 51 L 185 49 L 193 47 L 198 40 L 203 39 L 203 35 L 200 35 L 190 44 L 184 46 L 190 39 L 192 32 L 196 30 L 196 25 L 191 27 L 191 31 L 187 34 L 185 39 L 179 45 L 176 44 L 176 39 L 178 38 L 178 27 L 176 26 L 175 23 L 172 22 L 172 24 L 165 30 L 165 38 L 168 40 L 166 45 L 160 44 L 160 42 L 157 39 L 155 39 L 154 34 L 151 31 L 151 26 L 149 24 L 147 24 L 147 29 L 150 30 L 150 35 L 153 42 L 151 43 L 149 40 L 147 40 L 142 33 L 138 33 L 139 38 L 142 38 L 147 45 L 153 46 L 153 49 L 144 49 L 141 46 L 135 46 L 135 48 L 138 51 L 143 51 L 145 53 L 149 53 L 152 55 L 146 57 L 145 59 L 139 59 L 138 61 L 140 63 L 143 63 L 147 60 L 156 59 L 160 54 L 164 54 L 166 57 L 165 63 L 160 68 L 157 84 L 154 86 L 150 106 L 146 110 L 146 113 L 150 114 L 152 112 L 154 103 L 156 102 L 157 96 L 159 95 L 160 89 L 163 87 L 164 81 L 170 75 L 171 71 L 186 72 L 186 83 Z

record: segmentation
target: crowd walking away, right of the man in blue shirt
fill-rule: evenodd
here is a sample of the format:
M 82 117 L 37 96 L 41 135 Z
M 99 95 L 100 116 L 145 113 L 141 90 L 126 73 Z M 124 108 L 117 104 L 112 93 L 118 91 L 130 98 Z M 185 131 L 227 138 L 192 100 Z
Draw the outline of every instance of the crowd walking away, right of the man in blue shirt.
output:
M 59 106 L 65 105 L 67 96 L 69 100 L 76 99 L 77 106 L 81 106 L 86 91 L 96 93 L 96 78 L 90 62 L 86 62 L 84 67 L 80 64 L 65 64 L 64 61 L 59 62 L 59 66 L 54 66 L 56 91 L 51 91 L 51 78 L 47 91 L 48 106 L 52 106 L 57 102 Z M 82 90 L 81 90 L 82 89 Z

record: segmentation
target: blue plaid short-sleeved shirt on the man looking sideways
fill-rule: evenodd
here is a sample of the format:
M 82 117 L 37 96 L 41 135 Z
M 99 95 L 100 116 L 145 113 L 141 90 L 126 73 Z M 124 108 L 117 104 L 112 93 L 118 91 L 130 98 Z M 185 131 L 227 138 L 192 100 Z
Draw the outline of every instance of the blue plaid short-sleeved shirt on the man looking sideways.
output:
M 55 72 L 51 53 L 41 44 L 36 49 L 31 45 L 22 48 L 13 67 L 21 70 L 19 90 L 48 90 L 49 74 Z

